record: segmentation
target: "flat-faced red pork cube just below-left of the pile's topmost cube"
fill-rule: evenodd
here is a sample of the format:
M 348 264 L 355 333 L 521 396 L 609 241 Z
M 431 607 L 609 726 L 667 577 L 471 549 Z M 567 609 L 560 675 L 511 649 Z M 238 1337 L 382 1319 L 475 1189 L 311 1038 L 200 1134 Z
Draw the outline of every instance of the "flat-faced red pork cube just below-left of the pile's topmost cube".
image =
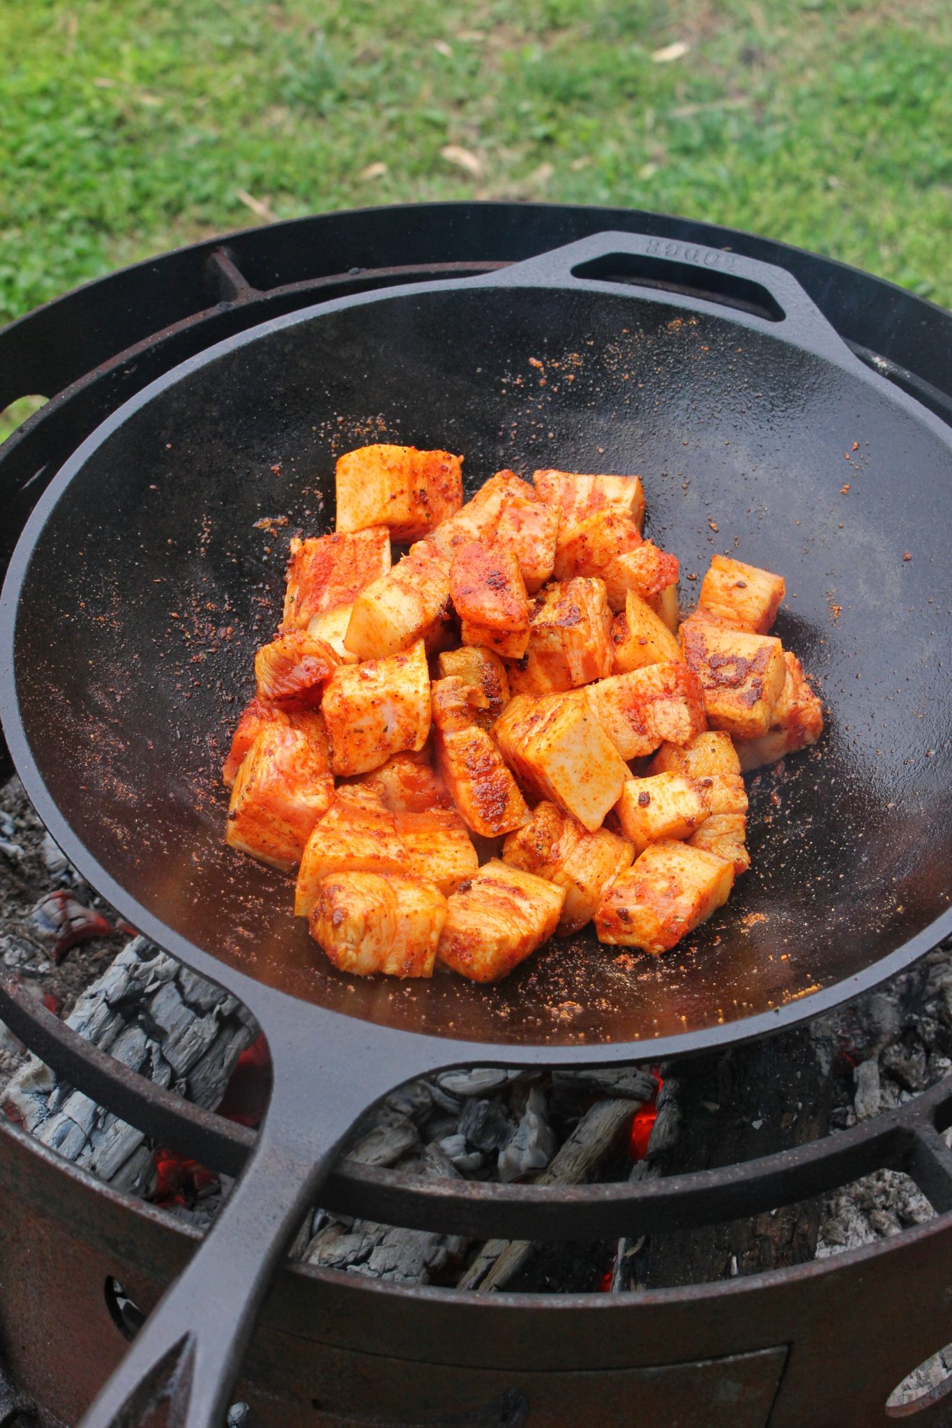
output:
M 354 534 L 291 541 L 281 633 L 307 630 L 314 615 L 350 605 L 390 570 L 390 531 L 371 526 Z M 321 634 L 320 630 L 311 631 Z

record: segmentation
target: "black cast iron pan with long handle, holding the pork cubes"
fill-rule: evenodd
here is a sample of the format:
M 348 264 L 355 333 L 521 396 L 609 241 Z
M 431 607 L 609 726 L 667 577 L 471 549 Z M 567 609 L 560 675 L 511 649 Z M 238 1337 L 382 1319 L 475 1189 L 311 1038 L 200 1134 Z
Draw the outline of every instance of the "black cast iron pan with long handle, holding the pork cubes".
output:
M 674 954 L 631 970 L 581 935 L 494 988 L 350 980 L 291 917 L 287 881 L 224 847 L 218 768 L 287 537 L 331 527 L 335 454 L 375 440 L 464 453 L 470 490 L 502 466 L 638 471 L 647 528 L 685 575 L 718 550 L 786 575 L 776 633 L 818 677 L 828 733 L 754 780 L 754 871 Z M 788 273 L 621 233 L 265 323 L 79 448 L 3 593 L 10 750 L 66 854 L 238 995 L 274 1062 L 248 1170 L 87 1428 L 136 1424 L 160 1392 L 173 1422 L 221 1421 L 335 1147 L 402 1080 L 761 1035 L 941 938 L 951 477 L 949 428 L 868 371 Z

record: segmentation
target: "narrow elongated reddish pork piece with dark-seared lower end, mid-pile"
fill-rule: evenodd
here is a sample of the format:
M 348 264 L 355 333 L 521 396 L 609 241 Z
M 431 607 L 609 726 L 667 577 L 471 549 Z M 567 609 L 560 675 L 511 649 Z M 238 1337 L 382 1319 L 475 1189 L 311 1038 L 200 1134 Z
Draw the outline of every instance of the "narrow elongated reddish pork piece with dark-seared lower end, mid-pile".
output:
M 464 823 L 484 838 L 521 827 L 528 818 L 525 800 L 500 750 L 475 721 L 470 700 L 481 691 L 458 675 L 432 684 L 432 725 L 437 767 Z

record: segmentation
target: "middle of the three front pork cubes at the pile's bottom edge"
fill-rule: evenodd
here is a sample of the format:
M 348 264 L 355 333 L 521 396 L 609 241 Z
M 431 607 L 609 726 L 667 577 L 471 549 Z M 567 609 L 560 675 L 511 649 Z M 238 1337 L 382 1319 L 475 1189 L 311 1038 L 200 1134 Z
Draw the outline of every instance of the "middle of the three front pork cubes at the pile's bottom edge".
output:
M 447 900 L 437 957 L 471 981 L 498 981 L 548 941 L 565 892 L 498 858 Z

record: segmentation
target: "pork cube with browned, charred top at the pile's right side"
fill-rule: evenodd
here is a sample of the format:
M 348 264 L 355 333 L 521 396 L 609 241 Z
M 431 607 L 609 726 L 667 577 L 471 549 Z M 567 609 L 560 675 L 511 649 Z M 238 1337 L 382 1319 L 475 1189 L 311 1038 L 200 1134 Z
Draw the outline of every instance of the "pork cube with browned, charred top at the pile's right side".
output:
M 766 734 L 786 678 L 781 641 L 692 615 L 681 625 L 681 648 L 701 681 L 711 728 L 738 738 Z

